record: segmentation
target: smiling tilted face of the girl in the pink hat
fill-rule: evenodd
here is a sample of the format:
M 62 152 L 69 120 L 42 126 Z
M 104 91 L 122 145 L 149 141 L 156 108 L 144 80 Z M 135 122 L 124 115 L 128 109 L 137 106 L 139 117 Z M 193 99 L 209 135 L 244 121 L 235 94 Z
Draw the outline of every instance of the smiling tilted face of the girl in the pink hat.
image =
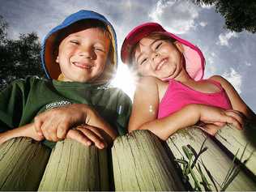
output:
M 134 49 L 134 62 L 140 75 L 175 79 L 182 66 L 182 45 L 168 40 L 144 37 Z

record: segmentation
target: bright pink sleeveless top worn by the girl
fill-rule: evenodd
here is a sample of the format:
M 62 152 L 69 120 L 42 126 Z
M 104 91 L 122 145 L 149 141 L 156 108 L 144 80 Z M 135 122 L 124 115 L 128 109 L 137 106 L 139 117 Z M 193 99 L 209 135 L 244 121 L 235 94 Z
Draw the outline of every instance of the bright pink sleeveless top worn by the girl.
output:
M 220 92 L 198 92 L 174 79 L 170 79 L 167 91 L 160 101 L 158 118 L 169 116 L 169 114 L 189 104 L 203 104 L 220 107 L 222 109 L 232 109 L 230 100 L 220 83 L 212 79 L 207 79 L 207 81 L 219 87 Z

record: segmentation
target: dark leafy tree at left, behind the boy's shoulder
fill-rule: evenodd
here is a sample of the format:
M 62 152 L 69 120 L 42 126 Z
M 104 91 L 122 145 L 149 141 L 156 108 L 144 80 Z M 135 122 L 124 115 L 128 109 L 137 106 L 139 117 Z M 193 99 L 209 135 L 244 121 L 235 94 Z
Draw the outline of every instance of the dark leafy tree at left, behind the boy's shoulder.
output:
M 0 15 L 0 89 L 27 75 L 44 77 L 41 45 L 35 32 L 20 34 L 18 40 L 7 36 L 8 23 Z

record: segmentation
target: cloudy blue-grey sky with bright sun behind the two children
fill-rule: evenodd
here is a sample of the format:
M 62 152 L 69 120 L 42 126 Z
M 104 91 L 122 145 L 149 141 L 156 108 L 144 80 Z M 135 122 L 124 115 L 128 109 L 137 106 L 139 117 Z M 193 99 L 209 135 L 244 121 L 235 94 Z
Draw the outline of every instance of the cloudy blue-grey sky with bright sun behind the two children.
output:
M 192 1 L 192 0 L 191 0 Z M 40 40 L 67 15 L 81 9 L 105 15 L 117 32 L 118 55 L 126 34 L 145 22 L 158 22 L 169 32 L 197 45 L 206 58 L 205 78 L 222 75 L 256 112 L 256 34 L 230 32 L 214 6 L 196 6 L 190 0 L 0 0 L 0 15 L 8 34 L 36 32 Z M 129 96 L 134 81 L 119 59 L 114 81 Z

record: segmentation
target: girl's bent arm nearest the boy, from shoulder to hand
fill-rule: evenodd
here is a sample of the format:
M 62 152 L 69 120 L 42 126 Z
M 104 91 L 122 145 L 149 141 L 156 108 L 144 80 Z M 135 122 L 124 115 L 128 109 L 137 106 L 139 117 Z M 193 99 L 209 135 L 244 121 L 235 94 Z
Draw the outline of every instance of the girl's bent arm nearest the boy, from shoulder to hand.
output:
M 129 131 L 150 130 L 160 139 L 166 140 L 171 134 L 198 121 L 228 122 L 241 129 L 241 118 L 232 111 L 207 105 L 186 105 L 186 107 L 161 119 L 157 119 L 159 92 L 156 79 L 143 78 L 137 86 L 129 122 Z

